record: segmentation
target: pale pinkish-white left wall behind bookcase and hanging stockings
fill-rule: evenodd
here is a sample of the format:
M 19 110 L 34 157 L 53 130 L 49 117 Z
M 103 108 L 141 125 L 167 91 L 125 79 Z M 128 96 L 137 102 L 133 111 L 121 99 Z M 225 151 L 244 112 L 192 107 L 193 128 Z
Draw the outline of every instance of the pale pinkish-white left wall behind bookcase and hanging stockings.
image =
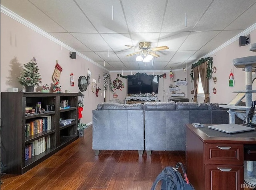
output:
M 52 83 L 52 74 L 56 60 L 63 68 L 60 75 L 60 84 L 62 91 L 70 90 L 71 92 L 79 92 L 78 78 L 81 75 L 87 76 L 88 68 L 92 72 L 92 78 L 98 82 L 98 75 L 102 76 L 102 82 L 97 85 L 102 89 L 97 98 L 92 92 L 91 86 L 83 92 L 84 111 L 82 112 L 84 123 L 92 122 L 92 110 L 100 102 L 104 102 L 103 96 L 103 70 L 102 68 L 88 62 L 80 56 L 76 56 L 76 60 L 69 58 L 69 50 L 61 48 L 58 44 L 48 38 L 38 34 L 34 30 L 20 24 L 12 18 L 1 13 L 1 92 L 6 92 L 8 87 L 18 87 L 17 76 L 20 76 L 23 64 L 29 62 L 33 56 L 37 60 L 39 73 L 42 77 L 42 84 Z M 74 74 L 75 86 L 70 86 L 70 74 Z M 101 96 L 102 93 L 102 96 Z

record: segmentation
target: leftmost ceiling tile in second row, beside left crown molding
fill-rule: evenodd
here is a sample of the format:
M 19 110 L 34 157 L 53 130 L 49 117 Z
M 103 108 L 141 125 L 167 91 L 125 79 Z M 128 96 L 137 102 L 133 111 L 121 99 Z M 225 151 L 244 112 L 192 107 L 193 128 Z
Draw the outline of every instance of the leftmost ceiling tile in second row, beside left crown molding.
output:
M 84 44 L 82 44 L 79 40 L 74 38 L 74 36 L 72 36 L 69 33 L 49 32 L 49 34 L 54 36 L 58 40 L 64 42 L 68 46 L 74 48 L 77 51 L 80 51 L 80 50 L 82 50 L 82 51 L 90 51 L 90 49 L 88 47 L 86 47 Z

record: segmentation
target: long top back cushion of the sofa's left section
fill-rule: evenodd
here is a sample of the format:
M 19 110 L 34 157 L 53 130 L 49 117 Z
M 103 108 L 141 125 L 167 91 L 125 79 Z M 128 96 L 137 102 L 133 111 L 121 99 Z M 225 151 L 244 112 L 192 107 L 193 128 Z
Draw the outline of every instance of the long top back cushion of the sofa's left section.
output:
M 143 104 L 100 103 L 97 110 L 143 110 Z

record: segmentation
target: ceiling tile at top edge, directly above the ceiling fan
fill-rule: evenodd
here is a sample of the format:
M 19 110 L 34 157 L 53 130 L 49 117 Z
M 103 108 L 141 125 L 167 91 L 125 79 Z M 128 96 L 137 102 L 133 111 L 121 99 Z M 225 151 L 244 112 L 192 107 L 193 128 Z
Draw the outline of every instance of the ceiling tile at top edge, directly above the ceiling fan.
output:
M 165 1 L 126 0 L 122 3 L 130 32 L 159 32 Z

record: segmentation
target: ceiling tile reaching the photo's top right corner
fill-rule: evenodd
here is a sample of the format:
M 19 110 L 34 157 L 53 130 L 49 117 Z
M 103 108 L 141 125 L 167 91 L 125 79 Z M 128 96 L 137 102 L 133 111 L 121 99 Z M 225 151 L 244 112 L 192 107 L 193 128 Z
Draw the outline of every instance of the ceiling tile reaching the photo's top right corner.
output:
M 223 30 L 254 2 L 255 0 L 214 0 L 194 31 Z

